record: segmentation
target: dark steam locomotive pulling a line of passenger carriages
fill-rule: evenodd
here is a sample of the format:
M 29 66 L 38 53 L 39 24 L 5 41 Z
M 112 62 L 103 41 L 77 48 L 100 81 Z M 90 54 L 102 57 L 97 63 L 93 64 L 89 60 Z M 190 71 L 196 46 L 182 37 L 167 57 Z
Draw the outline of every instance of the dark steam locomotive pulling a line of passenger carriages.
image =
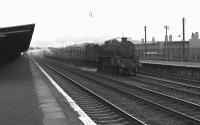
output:
M 121 40 L 110 39 L 102 45 L 95 43 L 73 45 L 64 48 L 50 48 L 47 56 L 67 60 L 96 64 L 98 71 L 136 75 L 141 68 L 138 56 L 135 54 L 135 44 L 122 37 Z

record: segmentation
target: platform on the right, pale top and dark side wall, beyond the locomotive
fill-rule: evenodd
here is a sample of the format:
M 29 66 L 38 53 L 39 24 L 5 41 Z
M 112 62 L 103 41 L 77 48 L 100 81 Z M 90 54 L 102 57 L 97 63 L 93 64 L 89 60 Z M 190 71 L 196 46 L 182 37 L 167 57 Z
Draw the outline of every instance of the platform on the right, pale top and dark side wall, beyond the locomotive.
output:
M 199 81 L 200 63 L 178 62 L 161 60 L 140 60 L 142 63 L 141 72 L 159 74 L 163 77 L 178 77 L 185 80 Z

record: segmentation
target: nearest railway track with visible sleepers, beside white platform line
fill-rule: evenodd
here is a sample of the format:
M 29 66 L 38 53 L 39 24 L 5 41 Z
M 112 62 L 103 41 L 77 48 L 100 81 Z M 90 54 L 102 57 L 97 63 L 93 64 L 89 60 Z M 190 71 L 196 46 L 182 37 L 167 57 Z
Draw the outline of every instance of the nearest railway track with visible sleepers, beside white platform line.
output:
M 100 125 L 146 125 L 56 68 L 41 61 L 38 62 L 64 90 L 70 93 L 73 99 L 95 123 Z M 66 86 L 66 83 L 68 86 Z

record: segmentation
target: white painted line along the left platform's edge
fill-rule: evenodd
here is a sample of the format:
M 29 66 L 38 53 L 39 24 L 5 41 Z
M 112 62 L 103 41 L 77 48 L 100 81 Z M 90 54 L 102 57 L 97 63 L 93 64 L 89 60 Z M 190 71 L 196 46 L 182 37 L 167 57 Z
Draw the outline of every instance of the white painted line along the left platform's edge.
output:
M 33 59 L 39 69 L 46 75 L 54 87 L 66 98 L 69 105 L 79 114 L 79 119 L 83 122 L 84 125 L 96 125 L 96 123 L 75 103 L 75 101 L 64 92 L 64 90 L 44 71 L 42 67 Z

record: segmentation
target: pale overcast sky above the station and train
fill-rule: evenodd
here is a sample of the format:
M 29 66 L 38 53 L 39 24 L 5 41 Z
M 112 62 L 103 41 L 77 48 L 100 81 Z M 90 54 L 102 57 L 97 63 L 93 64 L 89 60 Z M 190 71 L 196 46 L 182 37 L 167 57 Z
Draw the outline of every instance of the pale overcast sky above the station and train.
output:
M 200 32 L 199 0 L 0 0 L 0 27 L 35 23 L 31 46 L 47 47 L 103 42 L 114 37 L 155 37 L 164 41 L 164 26 L 181 40 Z

